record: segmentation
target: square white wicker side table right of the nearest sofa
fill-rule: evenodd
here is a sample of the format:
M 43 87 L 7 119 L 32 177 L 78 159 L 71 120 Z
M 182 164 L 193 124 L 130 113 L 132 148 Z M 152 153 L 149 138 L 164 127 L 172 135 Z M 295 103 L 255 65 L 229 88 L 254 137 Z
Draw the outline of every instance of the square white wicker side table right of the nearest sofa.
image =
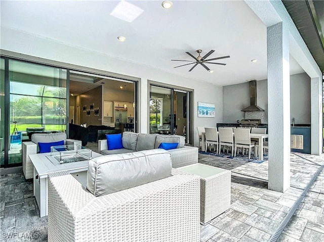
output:
M 200 222 L 205 224 L 230 208 L 231 172 L 204 164 L 176 169 L 176 174 L 200 176 Z

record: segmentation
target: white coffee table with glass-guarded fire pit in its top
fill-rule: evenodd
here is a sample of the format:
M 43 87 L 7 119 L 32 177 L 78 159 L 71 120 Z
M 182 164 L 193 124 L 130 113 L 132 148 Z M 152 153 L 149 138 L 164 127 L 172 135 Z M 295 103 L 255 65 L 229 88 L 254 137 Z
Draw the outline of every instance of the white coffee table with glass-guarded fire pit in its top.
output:
M 60 164 L 50 157 L 51 153 L 29 155 L 34 167 L 33 195 L 41 217 L 48 215 L 48 175 L 57 171 L 67 171 L 80 180 L 87 180 L 88 160 Z M 92 158 L 102 156 L 92 152 Z

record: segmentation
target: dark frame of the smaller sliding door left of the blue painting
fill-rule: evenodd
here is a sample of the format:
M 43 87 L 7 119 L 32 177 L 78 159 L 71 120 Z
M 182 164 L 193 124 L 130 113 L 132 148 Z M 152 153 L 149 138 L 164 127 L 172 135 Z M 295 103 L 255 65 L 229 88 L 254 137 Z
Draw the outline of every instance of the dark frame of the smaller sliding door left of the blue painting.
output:
M 194 90 L 186 87 L 181 87 L 181 86 L 176 86 L 176 85 L 171 85 L 167 83 L 161 83 L 161 82 L 156 82 L 152 80 L 147 81 L 147 124 L 148 124 L 148 133 L 149 133 L 149 126 L 150 126 L 150 121 L 149 121 L 149 116 L 150 116 L 150 96 L 151 96 L 151 86 L 157 86 L 161 88 L 167 88 L 171 90 L 171 97 L 170 99 L 172 100 L 171 102 L 171 114 L 174 113 L 174 104 L 173 104 L 173 99 L 174 99 L 174 91 L 181 91 L 181 92 L 186 92 L 187 93 L 187 130 L 186 130 L 186 144 L 189 144 L 190 146 L 193 146 L 193 127 L 194 127 L 194 122 L 193 122 L 193 93 Z M 173 126 L 174 124 L 174 115 L 171 115 L 170 117 L 170 122 Z M 171 127 L 172 127 L 171 126 Z M 171 134 L 173 134 L 173 129 L 171 130 Z

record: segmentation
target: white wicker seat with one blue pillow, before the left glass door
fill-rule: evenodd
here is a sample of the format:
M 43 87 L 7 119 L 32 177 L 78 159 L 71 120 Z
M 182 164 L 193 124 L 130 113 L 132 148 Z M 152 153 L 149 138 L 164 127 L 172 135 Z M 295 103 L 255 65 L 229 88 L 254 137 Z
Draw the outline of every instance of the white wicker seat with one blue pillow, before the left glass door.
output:
M 55 142 L 63 140 L 64 144 L 79 144 L 82 141 L 75 139 L 67 139 L 66 133 L 34 133 L 31 135 L 31 141 L 22 143 L 22 170 L 25 178 L 33 178 L 34 168 L 29 158 L 29 155 L 37 154 L 39 152 L 38 142 Z

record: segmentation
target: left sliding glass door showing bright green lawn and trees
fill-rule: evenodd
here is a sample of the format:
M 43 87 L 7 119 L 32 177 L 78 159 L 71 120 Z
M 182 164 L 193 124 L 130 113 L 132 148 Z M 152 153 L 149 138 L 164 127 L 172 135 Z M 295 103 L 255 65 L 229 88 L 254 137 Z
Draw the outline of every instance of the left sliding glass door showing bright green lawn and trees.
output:
M 66 130 L 66 70 L 9 60 L 8 159 L 21 164 L 22 142 L 32 132 Z M 3 83 L 3 82 L 2 82 Z

